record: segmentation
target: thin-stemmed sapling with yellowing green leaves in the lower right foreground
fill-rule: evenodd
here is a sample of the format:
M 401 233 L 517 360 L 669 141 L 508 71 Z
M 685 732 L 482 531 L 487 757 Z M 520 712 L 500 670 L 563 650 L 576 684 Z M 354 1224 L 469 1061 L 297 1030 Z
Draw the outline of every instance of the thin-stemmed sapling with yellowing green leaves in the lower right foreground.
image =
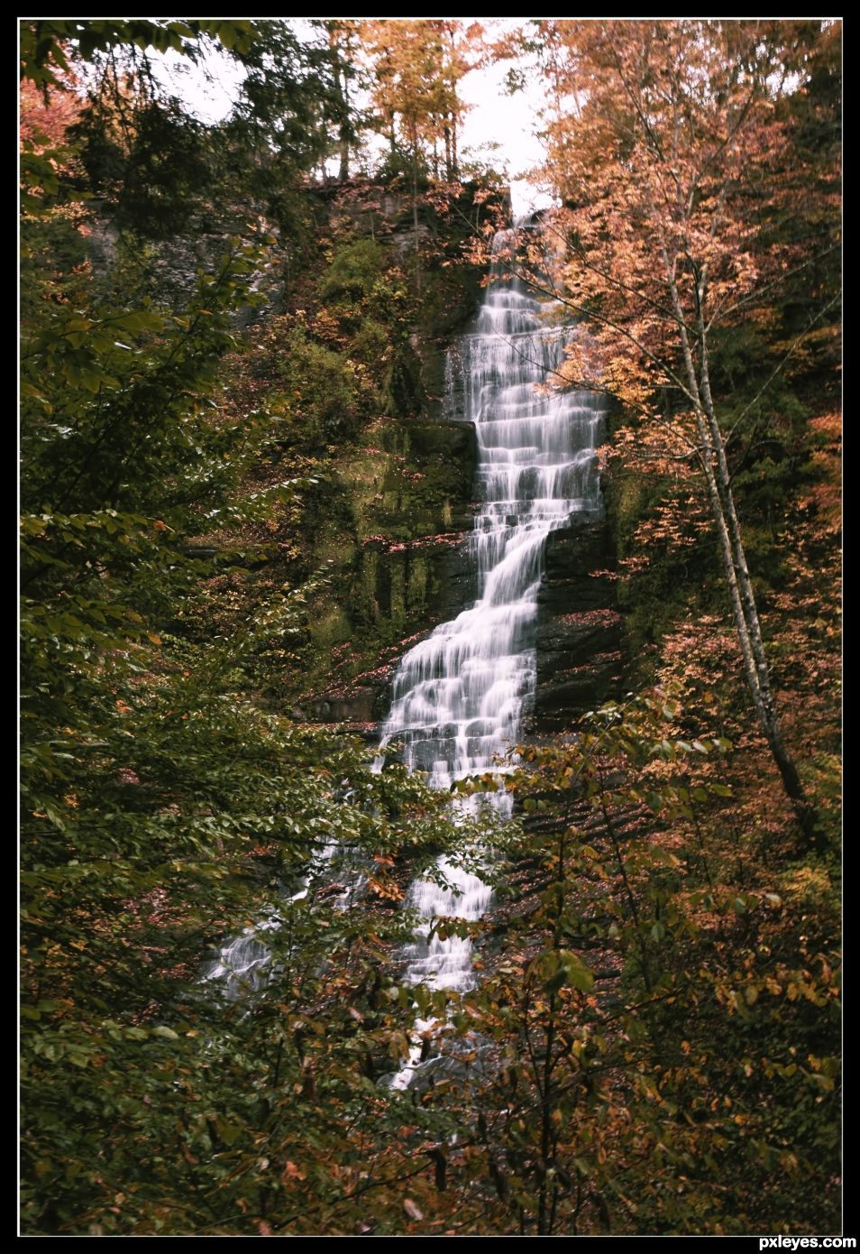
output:
M 687 642 L 687 681 L 688 658 Z M 469 1115 L 448 1149 L 456 1231 L 839 1224 L 825 861 L 787 869 L 738 839 L 751 755 L 661 678 L 575 735 L 520 746 L 506 780 L 520 816 L 501 841 L 503 903 L 448 1043 Z

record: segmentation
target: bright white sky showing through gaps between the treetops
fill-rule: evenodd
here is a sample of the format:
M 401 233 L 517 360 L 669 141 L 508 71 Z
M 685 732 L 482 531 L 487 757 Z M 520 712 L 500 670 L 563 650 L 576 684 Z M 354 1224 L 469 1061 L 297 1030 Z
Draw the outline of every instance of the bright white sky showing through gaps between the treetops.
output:
M 306 19 L 291 19 L 300 28 Z M 480 20 L 493 31 L 510 29 L 527 21 L 525 18 L 504 19 L 461 19 L 469 24 Z M 155 59 L 155 58 L 153 58 Z M 163 58 L 169 85 L 203 120 L 216 122 L 223 118 L 233 103 L 241 70 L 227 56 L 211 56 L 206 65 L 217 80 L 209 83 L 201 69 L 192 65 L 177 53 Z M 545 104 L 543 80 L 538 74 L 527 75 L 525 89 L 515 95 L 508 95 L 504 88 L 506 71 L 513 61 L 496 61 L 480 70 L 471 70 L 460 83 L 460 97 L 468 109 L 461 134 L 460 155 L 468 158 L 466 149 L 481 149 L 485 144 L 498 144 L 493 152 L 479 153 L 483 161 L 500 172 L 506 168 L 510 174 L 510 192 L 514 214 L 528 213 L 552 203 L 550 197 L 542 192 L 525 177 L 527 172 L 542 159 L 540 140 L 535 137 L 539 128 L 539 109 Z

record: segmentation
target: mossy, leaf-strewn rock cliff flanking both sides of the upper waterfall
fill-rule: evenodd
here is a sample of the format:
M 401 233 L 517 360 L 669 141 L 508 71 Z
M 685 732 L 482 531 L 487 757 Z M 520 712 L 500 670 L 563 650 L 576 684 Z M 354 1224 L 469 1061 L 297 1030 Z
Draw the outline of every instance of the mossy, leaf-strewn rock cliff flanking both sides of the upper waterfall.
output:
M 504 208 L 505 193 L 496 199 Z M 281 311 L 256 315 L 243 396 L 273 414 L 283 463 L 318 475 L 298 525 L 276 535 L 295 584 L 327 569 L 307 601 L 301 688 L 266 680 L 296 717 L 372 739 L 402 655 L 476 596 L 468 554 L 475 431 L 465 421 L 458 339 L 483 272 L 463 247 L 488 212 L 463 188 L 449 212 L 355 186 L 313 199 L 321 255 L 286 265 Z M 420 250 L 420 253 L 416 252 Z M 420 275 L 416 268 L 420 266 Z M 337 398 L 337 400 L 332 400 Z M 550 533 L 537 624 L 529 731 L 562 730 L 613 691 L 619 617 L 612 530 L 602 510 Z M 277 561 L 262 578 L 278 578 Z

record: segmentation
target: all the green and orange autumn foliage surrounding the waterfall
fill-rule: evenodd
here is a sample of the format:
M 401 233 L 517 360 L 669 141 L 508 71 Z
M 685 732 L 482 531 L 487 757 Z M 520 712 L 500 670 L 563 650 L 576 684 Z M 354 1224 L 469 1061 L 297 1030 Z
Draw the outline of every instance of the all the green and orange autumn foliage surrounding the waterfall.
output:
M 578 326 L 547 386 L 617 401 L 618 608 L 568 617 L 623 665 L 518 746 L 501 825 L 498 776 L 453 821 L 305 717 L 429 628 L 435 584 L 382 624 L 372 581 L 464 525 L 421 350 L 504 201 L 459 182 L 480 24 L 23 36 L 23 1230 L 837 1234 L 840 25 L 496 49 L 553 104 L 510 256 Z M 248 76 L 209 128 L 147 70 L 212 40 Z M 218 247 L 158 287 L 177 223 Z M 431 922 L 466 992 L 404 981 L 443 853 L 495 890 Z

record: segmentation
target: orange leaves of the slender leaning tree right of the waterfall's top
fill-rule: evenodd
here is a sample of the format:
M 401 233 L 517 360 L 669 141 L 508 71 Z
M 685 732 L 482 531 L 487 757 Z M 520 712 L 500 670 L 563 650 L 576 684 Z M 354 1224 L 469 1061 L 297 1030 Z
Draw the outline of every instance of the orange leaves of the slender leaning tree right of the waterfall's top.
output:
M 598 377 L 639 405 L 668 381 L 690 386 L 682 337 L 696 356 L 701 312 L 708 334 L 748 320 L 751 293 L 809 261 L 762 240 L 762 213 L 799 208 L 804 158 L 775 99 L 794 90 L 794 31 L 762 43 L 752 23 L 555 19 L 542 35 L 564 100 L 544 172 L 567 206 L 553 216 L 570 241 L 559 282 L 595 327 Z M 792 178 L 779 177 L 792 161 Z

